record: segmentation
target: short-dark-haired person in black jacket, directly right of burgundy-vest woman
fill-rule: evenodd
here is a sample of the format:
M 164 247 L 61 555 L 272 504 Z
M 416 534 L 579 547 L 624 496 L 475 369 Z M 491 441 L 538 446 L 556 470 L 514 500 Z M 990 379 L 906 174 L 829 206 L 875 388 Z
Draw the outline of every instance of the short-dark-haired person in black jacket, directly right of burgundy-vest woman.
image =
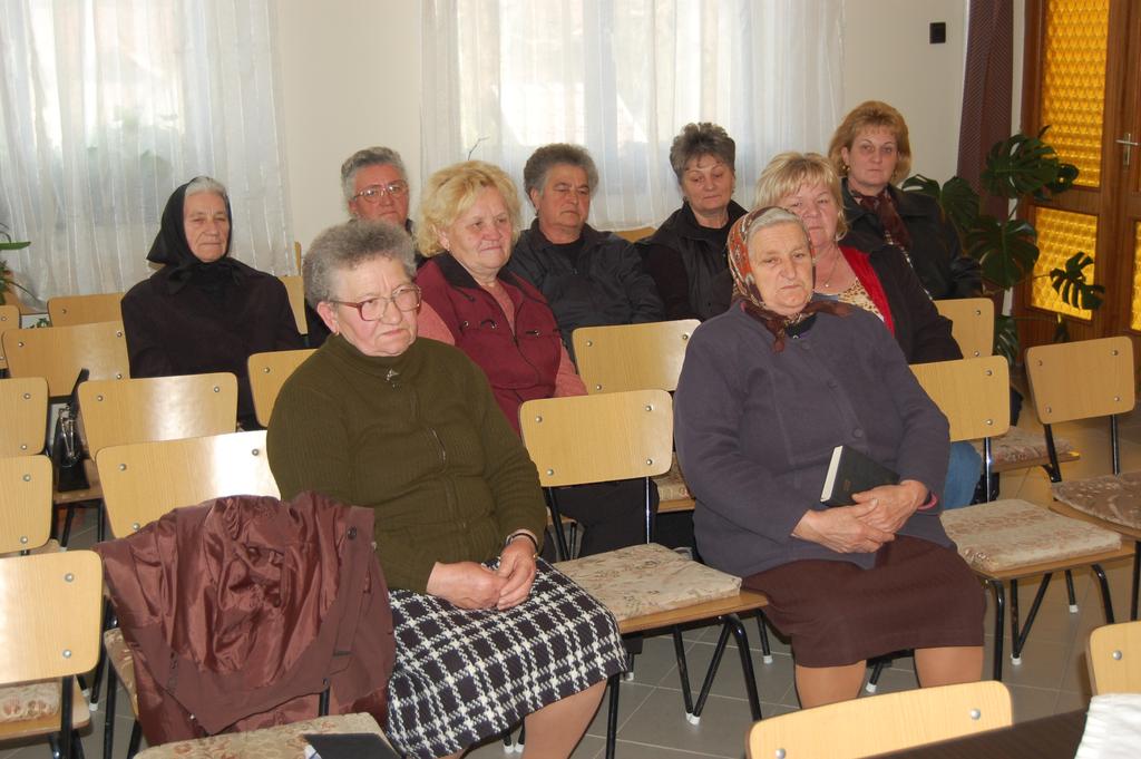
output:
M 657 285 L 630 243 L 586 224 L 598 170 L 585 148 L 540 147 L 527 159 L 523 181 L 535 221 L 519 235 L 507 268 L 547 298 L 572 358 L 570 334 L 578 326 L 665 318 Z

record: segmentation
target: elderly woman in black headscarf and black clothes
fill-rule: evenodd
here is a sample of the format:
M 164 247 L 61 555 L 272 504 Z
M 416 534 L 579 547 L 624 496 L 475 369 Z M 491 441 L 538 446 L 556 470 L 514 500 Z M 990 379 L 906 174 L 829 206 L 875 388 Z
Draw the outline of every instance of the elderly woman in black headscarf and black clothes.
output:
M 196 177 L 171 194 L 147 260 L 162 265 L 122 301 L 131 377 L 232 372 L 237 417 L 256 427 L 246 360 L 301 348 L 285 285 L 229 256 L 226 188 Z

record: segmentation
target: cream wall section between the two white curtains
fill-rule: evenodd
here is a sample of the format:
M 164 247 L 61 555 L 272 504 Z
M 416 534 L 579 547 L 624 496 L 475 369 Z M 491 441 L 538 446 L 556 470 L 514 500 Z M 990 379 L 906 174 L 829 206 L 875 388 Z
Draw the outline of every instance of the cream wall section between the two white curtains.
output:
M 277 7 L 290 208 L 304 248 L 348 218 L 340 168 L 354 151 L 391 147 L 413 193 L 420 187 L 420 6 L 281 0 Z

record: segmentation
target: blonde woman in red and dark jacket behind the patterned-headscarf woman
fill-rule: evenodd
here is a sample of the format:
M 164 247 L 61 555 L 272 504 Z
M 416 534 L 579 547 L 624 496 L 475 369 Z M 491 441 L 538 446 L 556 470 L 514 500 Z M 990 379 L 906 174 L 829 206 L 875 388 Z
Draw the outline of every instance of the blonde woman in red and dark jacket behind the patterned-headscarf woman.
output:
M 903 252 L 882 242 L 872 253 L 836 242 L 847 233 L 840 178 L 823 155 L 774 158 L 756 180 L 756 205 L 779 205 L 801 218 L 812 242 L 816 292 L 879 316 L 907 363 L 963 357 L 950 336 L 950 322 L 936 310 Z M 971 502 L 981 469 L 970 443 L 952 445 L 944 508 Z

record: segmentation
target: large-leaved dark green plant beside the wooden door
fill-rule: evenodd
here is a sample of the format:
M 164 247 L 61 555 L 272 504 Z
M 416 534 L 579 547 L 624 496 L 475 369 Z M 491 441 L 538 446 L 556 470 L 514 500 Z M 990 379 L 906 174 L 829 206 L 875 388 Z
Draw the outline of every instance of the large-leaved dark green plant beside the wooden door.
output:
M 916 175 L 904 181 L 903 187 L 930 195 L 939 203 L 944 218 L 958 233 L 963 250 L 982 267 L 984 294 L 997 297 L 1026 280 L 1049 276 L 1051 286 L 1063 301 L 1077 308 L 1094 309 L 1101 305 L 1106 289 L 1086 278 L 1085 271 L 1093 259 L 1085 251 L 1077 251 L 1067 259 L 1065 268 L 1035 275 L 1038 233 L 1034 225 L 1019 218 L 1026 203 L 1049 203 L 1054 195 L 1073 187 L 1078 175 L 1077 167 L 1061 162 L 1054 148 L 1043 142 L 1047 129 L 1050 127 L 1043 128 L 1036 137 L 1014 135 L 990 148 L 980 177 L 985 195 L 957 176 L 940 186 L 934 179 Z M 1002 199 L 1010 208 L 1005 217 L 984 211 L 987 201 L 993 199 Z M 998 312 L 996 309 L 995 353 L 1013 365 L 1019 354 L 1015 318 Z M 1066 322 L 1058 315 L 1054 340 L 1066 339 Z

